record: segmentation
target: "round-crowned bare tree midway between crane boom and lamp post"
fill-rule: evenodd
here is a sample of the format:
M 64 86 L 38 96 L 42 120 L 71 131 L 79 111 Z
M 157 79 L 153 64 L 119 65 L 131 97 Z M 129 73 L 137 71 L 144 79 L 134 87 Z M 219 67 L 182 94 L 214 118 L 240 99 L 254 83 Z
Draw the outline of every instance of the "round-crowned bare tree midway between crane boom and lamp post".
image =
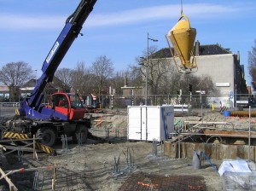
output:
M 95 75 L 97 94 L 101 95 L 108 78 L 113 76 L 113 62 L 106 55 L 101 55 L 92 63 L 91 72 Z

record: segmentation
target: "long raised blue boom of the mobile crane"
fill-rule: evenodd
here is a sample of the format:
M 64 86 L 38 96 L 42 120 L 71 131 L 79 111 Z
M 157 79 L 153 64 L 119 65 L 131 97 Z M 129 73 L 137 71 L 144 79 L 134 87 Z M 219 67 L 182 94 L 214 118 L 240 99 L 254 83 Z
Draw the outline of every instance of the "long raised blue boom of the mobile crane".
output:
M 67 18 L 66 25 L 62 29 L 61 34 L 56 39 L 44 61 L 42 67 L 43 74 L 38 78 L 38 82 L 32 91 L 31 96 L 26 97 L 25 101 L 21 101 L 20 113 L 28 113 L 27 110 L 31 109 L 38 111 L 44 97 L 44 88 L 46 84 L 52 82 L 55 71 L 59 67 L 63 57 L 67 54 L 67 50 L 72 45 L 74 39 L 78 37 L 84 21 L 89 16 L 95 3 L 96 0 L 81 0 L 77 9 Z

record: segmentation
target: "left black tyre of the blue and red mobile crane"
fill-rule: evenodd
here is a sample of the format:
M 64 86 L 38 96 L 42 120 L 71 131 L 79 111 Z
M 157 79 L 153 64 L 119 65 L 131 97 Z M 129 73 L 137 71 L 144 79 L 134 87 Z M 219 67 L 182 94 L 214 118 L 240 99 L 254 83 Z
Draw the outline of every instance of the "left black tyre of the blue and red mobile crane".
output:
M 55 135 L 55 131 L 52 130 L 51 128 L 44 127 L 44 128 L 38 129 L 36 137 L 40 138 L 39 142 L 41 142 L 42 144 L 48 147 L 52 147 L 55 145 L 56 135 Z

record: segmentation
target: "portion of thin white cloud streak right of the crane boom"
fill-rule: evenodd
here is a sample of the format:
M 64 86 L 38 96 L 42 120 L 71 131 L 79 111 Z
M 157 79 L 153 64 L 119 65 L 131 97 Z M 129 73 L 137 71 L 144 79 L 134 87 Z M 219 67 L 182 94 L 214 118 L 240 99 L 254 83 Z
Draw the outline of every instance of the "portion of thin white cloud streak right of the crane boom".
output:
M 187 4 L 183 7 L 184 14 L 201 15 L 227 14 L 236 8 L 227 8 L 214 4 Z M 96 14 L 90 19 L 90 26 L 109 26 L 126 23 L 138 23 L 147 20 L 170 20 L 177 19 L 180 14 L 180 5 L 164 5 L 144 9 L 132 9 L 112 14 Z M 208 15 L 208 16 L 209 16 Z

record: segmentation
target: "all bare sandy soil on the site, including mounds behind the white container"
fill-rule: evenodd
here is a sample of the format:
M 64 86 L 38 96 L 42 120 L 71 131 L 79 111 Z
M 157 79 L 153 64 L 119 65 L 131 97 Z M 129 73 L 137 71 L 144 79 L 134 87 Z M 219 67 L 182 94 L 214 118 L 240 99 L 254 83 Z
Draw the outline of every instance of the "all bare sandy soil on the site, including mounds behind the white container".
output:
M 161 144 L 157 146 L 157 155 L 154 155 L 152 142 L 125 140 L 125 114 L 108 114 L 100 118 L 101 115 L 99 114 L 90 131 L 95 136 L 106 136 L 108 127 L 111 143 L 88 140 L 86 144 L 78 146 L 68 142 L 67 148 L 62 149 L 61 144 L 56 146 L 56 156 L 38 153 L 38 159 L 33 159 L 32 153 L 13 153 L 1 159 L 1 168 L 6 172 L 26 169 L 24 172 L 19 171 L 9 176 L 19 190 L 51 190 L 53 165 L 56 167 L 55 190 L 120 190 L 128 178 L 138 172 L 162 177 L 202 176 L 206 189 L 192 190 L 222 190 L 223 178 L 219 177 L 218 172 L 214 171 L 208 161 L 202 162 L 201 169 L 195 169 L 192 159 L 169 159 L 164 156 L 164 147 Z M 98 119 L 102 122 L 99 123 Z M 201 120 L 197 116 L 175 118 L 177 119 Z M 231 128 L 246 128 L 242 125 L 247 125 L 248 122 L 247 119 L 224 118 L 219 113 L 209 113 L 205 120 L 229 121 L 232 124 Z M 230 125 L 225 125 L 224 128 L 230 128 Z M 222 161 L 212 161 L 217 168 L 221 163 Z M 0 184 L 1 191 L 9 190 L 3 180 Z M 161 189 L 145 187 L 143 190 Z

